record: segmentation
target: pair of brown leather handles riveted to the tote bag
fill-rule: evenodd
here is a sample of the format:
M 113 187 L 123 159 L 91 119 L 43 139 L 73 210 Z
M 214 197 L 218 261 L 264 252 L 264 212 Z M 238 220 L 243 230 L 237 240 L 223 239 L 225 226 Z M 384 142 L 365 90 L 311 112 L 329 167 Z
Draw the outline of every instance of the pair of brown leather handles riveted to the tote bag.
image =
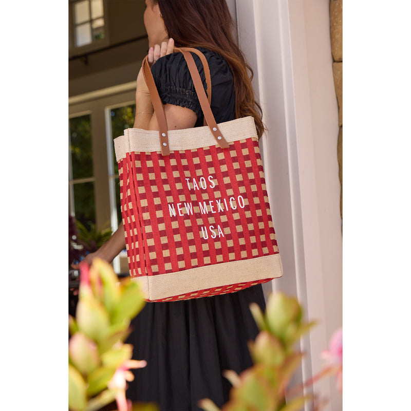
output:
M 189 68 L 194 88 L 197 92 L 197 97 L 200 102 L 200 106 L 202 112 L 204 114 L 204 120 L 207 122 L 208 126 L 210 127 L 210 131 L 213 134 L 215 140 L 222 148 L 228 148 L 229 145 L 226 139 L 222 136 L 217 123 L 214 119 L 213 113 L 211 111 L 211 76 L 210 76 L 210 69 L 207 63 L 207 59 L 199 50 L 192 49 L 192 48 L 175 48 L 176 51 L 181 52 L 184 56 L 184 59 L 187 63 Z M 195 50 L 195 51 L 193 51 Z M 204 87 L 200 78 L 200 74 L 198 72 L 197 66 L 194 62 L 193 56 L 191 55 L 190 51 L 196 53 L 203 64 L 204 67 L 204 74 L 206 74 L 206 81 L 209 79 L 210 86 L 208 85 L 208 89 L 210 90 L 209 96 L 207 97 L 206 91 L 204 91 Z M 158 95 L 158 91 L 156 88 L 156 84 L 154 82 L 153 74 L 151 72 L 150 66 L 148 65 L 148 56 L 146 56 L 142 63 L 142 69 L 144 74 L 144 79 L 147 84 L 148 90 L 150 91 L 150 95 L 153 102 L 154 111 L 157 117 L 158 127 L 159 127 L 159 135 L 160 135 L 160 144 L 161 144 L 161 154 L 163 156 L 170 155 L 170 148 L 169 148 L 169 138 L 168 138 L 168 127 L 167 127 L 167 120 L 164 114 L 164 107 L 161 102 L 160 96 Z M 209 88 L 210 87 L 210 88 Z

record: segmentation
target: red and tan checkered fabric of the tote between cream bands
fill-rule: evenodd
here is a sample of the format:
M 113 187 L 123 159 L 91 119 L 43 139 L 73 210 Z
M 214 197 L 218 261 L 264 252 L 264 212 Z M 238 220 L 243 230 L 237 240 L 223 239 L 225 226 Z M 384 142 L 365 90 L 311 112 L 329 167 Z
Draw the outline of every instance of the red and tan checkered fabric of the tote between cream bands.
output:
M 157 275 L 278 253 L 258 141 L 119 161 L 130 275 Z M 267 279 L 175 296 L 238 291 Z

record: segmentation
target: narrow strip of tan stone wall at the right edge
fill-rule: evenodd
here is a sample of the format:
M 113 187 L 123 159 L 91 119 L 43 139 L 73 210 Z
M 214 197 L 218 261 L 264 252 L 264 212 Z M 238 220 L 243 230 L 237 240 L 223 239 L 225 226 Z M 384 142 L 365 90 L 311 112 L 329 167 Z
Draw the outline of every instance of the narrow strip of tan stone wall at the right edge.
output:
M 340 131 L 337 142 L 337 158 L 341 183 L 340 212 L 343 217 L 343 0 L 330 1 L 330 34 L 332 51 L 332 72 L 335 94 L 338 102 L 338 124 Z

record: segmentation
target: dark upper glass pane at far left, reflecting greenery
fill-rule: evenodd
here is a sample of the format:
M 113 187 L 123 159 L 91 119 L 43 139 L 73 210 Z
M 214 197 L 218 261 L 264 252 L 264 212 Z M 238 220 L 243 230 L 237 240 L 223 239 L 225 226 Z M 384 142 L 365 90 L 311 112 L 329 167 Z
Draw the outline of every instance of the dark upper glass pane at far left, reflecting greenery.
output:
M 70 119 L 70 153 L 73 179 L 93 176 L 90 115 Z

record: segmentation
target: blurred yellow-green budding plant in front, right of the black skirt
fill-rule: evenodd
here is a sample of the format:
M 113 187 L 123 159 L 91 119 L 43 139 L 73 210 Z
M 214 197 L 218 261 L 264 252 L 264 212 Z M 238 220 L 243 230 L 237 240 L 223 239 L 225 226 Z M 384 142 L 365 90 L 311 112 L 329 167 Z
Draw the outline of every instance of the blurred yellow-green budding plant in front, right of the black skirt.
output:
M 303 310 L 296 298 L 283 293 L 269 297 L 266 312 L 257 304 L 250 306 L 260 330 L 249 343 L 254 365 L 237 375 L 226 371 L 233 384 L 230 399 L 222 411 L 297 411 L 310 399 L 297 396 L 285 399 L 293 373 L 301 364 L 303 354 L 295 351 L 295 342 L 314 325 L 303 322 Z M 221 411 L 210 399 L 199 402 L 205 411 Z

